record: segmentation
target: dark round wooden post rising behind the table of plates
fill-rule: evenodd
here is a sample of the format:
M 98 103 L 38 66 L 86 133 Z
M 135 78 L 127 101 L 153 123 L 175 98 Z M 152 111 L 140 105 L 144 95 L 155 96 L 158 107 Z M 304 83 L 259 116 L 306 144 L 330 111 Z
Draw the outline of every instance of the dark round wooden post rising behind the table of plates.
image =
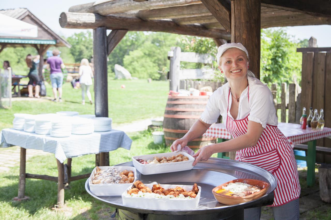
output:
M 96 117 L 108 117 L 107 57 L 106 28 L 97 27 L 93 29 L 94 109 Z M 96 165 L 109 166 L 109 152 L 97 154 Z

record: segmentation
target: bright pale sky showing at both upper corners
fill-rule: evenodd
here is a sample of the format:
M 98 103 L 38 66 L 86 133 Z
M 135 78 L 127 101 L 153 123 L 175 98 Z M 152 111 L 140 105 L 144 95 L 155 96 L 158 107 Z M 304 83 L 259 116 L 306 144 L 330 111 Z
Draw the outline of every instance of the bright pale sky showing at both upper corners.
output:
M 27 8 L 33 15 L 39 18 L 44 24 L 51 28 L 55 33 L 65 37 L 73 33 L 83 31 L 82 29 L 62 28 L 59 24 L 59 16 L 62 12 L 68 12 L 74 5 L 93 2 L 93 0 L 11 0 L 2 1 L 0 9 Z M 317 39 L 318 47 L 331 47 L 331 25 L 313 25 L 287 27 L 287 33 L 294 36 L 295 40 L 309 39 L 311 36 Z

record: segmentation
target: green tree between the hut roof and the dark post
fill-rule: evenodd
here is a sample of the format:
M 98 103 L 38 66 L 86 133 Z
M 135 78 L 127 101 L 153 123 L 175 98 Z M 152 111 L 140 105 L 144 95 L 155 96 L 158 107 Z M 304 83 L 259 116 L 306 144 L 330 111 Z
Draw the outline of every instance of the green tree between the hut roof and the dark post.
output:
M 67 38 L 67 41 L 72 45 L 70 53 L 75 62 L 79 63 L 83 58 L 91 60 L 93 55 L 93 37 L 90 31 L 74 33 Z

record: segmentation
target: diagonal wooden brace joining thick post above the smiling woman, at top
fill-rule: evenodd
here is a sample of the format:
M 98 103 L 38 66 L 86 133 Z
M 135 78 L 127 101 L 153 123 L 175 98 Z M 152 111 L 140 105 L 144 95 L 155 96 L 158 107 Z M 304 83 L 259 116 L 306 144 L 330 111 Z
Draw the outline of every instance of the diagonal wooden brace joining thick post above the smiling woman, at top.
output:
M 226 0 L 201 0 L 227 32 L 231 32 L 231 4 Z

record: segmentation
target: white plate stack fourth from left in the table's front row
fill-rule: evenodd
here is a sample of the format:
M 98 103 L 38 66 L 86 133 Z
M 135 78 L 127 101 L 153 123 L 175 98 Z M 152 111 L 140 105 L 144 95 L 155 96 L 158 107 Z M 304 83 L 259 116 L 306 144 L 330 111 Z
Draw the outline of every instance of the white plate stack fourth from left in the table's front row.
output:
M 71 135 L 71 118 L 58 117 L 52 120 L 52 137 L 69 137 Z

